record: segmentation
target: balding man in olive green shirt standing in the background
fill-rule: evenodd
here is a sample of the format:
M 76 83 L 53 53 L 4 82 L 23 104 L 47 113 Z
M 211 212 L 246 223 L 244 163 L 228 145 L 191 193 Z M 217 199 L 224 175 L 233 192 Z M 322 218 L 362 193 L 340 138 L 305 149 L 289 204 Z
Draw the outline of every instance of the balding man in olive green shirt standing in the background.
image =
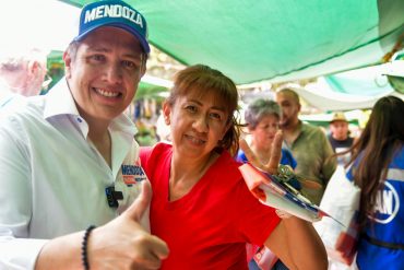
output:
M 299 120 L 301 108 L 298 94 L 290 87 L 276 92 L 276 103 L 282 108 L 280 127 L 284 132 L 284 145 L 296 159 L 296 174 L 309 183 L 304 193 L 319 204 L 328 181 L 336 168 L 336 159 L 324 132 L 312 125 Z

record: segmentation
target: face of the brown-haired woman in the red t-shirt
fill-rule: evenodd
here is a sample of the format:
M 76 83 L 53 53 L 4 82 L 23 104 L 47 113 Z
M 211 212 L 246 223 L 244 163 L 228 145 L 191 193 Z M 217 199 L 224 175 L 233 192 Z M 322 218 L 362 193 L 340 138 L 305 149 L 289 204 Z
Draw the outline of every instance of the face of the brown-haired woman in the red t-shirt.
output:
M 209 155 L 229 128 L 226 106 L 214 93 L 201 95 L 190 90 L 173 105 L 164 104 L 163 110 L 170 125 L 174 150 L 182 156 Z

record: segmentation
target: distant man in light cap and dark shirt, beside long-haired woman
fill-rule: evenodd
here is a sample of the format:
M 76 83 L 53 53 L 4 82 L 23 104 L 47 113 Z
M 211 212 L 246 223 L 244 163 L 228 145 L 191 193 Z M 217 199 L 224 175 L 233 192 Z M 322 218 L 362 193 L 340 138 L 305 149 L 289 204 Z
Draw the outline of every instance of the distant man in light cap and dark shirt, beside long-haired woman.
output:
M 329 141 L 334 153 L 345 152 L 354 143 L 354 138 L 349 137 L 348 121 L 342 111 L 333 115 L 330 121 Z M 345 152 L 344 155 L 337 155 L 340 165 L 345 165 L 350 160 L 350 152 Z

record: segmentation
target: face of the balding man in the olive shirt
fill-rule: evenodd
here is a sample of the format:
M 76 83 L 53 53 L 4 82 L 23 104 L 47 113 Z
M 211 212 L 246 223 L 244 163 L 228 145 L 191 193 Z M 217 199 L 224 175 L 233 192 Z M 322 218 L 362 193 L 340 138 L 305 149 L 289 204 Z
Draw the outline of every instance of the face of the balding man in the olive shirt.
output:
M 280 119 L 280 127 L 287 128 L 298 119 L 300 111 L 300 104 L 296 98 L 287 92 L 276 93 L 276 103 L 282 108 L 282 116 Z

